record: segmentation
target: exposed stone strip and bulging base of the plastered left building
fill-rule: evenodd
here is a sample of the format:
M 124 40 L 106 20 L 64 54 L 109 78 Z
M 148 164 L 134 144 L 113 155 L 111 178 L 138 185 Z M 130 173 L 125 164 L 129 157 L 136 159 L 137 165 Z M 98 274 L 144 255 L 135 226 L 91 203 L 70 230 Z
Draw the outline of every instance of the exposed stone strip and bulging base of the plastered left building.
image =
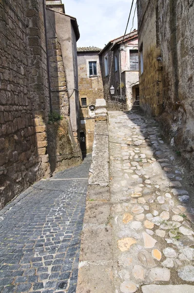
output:
M 81 163 L 81 152 L 75 141 L 69 118 L 69 98 L 66 76 L 57 37 L 48 39 L 52 108 L 61 116 L 61 121 L 49 123 L 48 147 L 51 172 L 76 166 Z

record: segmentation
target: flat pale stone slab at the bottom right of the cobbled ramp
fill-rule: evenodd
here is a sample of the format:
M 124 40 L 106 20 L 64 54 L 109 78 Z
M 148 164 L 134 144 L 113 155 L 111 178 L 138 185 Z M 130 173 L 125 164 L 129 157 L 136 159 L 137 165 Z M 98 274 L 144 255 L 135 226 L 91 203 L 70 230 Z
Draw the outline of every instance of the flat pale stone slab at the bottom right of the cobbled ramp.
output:
M 145 285 L 141 286 L 143 293 L 194 293 L 192 285 Z

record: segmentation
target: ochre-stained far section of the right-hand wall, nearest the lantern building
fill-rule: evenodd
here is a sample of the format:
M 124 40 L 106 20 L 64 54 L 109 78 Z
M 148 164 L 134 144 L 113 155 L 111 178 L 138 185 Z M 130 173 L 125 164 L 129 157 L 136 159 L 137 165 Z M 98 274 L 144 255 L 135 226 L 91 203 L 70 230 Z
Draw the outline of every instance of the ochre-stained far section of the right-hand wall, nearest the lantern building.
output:
M 140 107 L 149 114 L 157 116 L 162 107 L 161 95 L 161 57 L 156 42 L 157 0 L 137 1 L 138 41 L 143 52 L 143 73 L 139 66 Z M 139 55 L 140 63 L 140 55 Z

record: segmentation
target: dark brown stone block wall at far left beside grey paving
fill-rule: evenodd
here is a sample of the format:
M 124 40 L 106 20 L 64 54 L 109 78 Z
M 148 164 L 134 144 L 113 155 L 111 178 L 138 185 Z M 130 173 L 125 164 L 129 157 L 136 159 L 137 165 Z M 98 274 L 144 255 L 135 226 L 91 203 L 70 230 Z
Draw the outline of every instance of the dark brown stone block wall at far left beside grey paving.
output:
M 28 4 L 26 10 L 24 0 L 0 1 L 0 208 L 41 172 L 28 55 L 28 44 L 35 40 L 28 40 L 26 18 L 35 3 Z

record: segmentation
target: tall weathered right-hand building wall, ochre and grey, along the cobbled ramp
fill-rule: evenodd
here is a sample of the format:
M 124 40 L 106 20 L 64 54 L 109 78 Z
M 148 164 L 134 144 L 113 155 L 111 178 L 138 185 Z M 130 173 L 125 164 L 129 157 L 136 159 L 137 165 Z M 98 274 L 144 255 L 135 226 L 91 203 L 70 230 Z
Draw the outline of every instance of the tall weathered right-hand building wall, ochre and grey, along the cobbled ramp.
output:
M 140 107 L 194 170 L 194 1 L 137 0 Z M 194 172 L 191 172 L 194 178 Z

